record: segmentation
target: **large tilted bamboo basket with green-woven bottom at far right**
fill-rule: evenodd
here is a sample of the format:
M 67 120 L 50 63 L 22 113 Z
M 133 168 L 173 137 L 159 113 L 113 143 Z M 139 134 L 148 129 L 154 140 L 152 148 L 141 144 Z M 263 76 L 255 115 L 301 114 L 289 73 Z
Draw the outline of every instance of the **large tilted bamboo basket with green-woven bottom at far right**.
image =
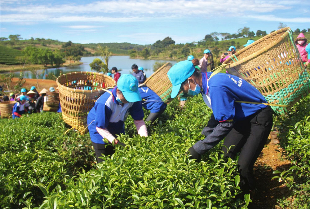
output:
M 290 28 L 282 28 L 244 47 L 224 61 L 226 70 L 254 85 L 280 115 L 309 93 L 309 74 Z

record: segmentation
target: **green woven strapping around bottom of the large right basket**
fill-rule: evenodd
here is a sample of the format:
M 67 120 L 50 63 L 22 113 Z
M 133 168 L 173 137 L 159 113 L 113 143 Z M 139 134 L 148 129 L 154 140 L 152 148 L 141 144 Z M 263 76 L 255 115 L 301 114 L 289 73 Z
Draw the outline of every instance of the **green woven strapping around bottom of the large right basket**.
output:
M 277 104 L 289 105 L 295 103 L 295 100 L 299 100 L 300 98 L 307 95 L 309 90 L 309 74 L 307 72 L 303 72 L 301 75 L 299 75 L 299 78 L 295 80 L 294 83 L 288 85 L 288 87 L 264 97 L 268 103 L 279 101 Z M 294 94 L 290 94 L 292 92 L 294 92 Z M 271 106 L 271 108 L 280 115 L 283 115 L 285 112 L 287 112 L 287 108 L 284 107 Z

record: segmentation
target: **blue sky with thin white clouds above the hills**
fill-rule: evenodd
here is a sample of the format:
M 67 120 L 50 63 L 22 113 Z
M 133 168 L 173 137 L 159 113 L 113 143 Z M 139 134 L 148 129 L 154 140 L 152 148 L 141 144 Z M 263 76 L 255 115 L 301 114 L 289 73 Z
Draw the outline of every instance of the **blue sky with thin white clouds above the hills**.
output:
M 0 2 L 0 37 L 51 38 L 74 43 L 153 44 L 202 40 L 212 32 L 310 28 L 310 1 L 108 0 Z M 219 37 L 220 38 L 220 37 Z

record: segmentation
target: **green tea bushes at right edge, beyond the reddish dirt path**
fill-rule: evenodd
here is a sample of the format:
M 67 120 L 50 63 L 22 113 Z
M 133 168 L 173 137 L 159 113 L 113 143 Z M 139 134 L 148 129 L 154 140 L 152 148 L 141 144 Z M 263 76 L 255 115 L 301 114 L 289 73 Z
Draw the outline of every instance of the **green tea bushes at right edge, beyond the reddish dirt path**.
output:
M 290 114 L 277 117 L 276 124 L 280 134 L 284 156 L 293 164 L 289 170 L 275 171 L 273 178 L 285 181 L 292 190 L 294 204 L 282 200 L 288 208 L 310 207 L 310 96 L 301 99 Z

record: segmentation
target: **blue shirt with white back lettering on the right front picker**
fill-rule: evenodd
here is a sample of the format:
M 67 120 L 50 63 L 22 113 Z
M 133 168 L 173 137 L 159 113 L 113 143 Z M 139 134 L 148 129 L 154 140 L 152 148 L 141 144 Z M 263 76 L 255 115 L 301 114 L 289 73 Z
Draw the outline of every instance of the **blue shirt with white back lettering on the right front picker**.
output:
M 240 121 L 266 108 L 264 104 L 247 104 L 237 101 L 268 103 L 263 95 L 247 81 L 230 74 L 218 73 L 211 77 L 212 72 L 201 72 L 202 96 L 206 104 L 206 94 L 210 94 L 211 108 L 216 120 Z M 209 92 L 207 92 L 209 91 Z

